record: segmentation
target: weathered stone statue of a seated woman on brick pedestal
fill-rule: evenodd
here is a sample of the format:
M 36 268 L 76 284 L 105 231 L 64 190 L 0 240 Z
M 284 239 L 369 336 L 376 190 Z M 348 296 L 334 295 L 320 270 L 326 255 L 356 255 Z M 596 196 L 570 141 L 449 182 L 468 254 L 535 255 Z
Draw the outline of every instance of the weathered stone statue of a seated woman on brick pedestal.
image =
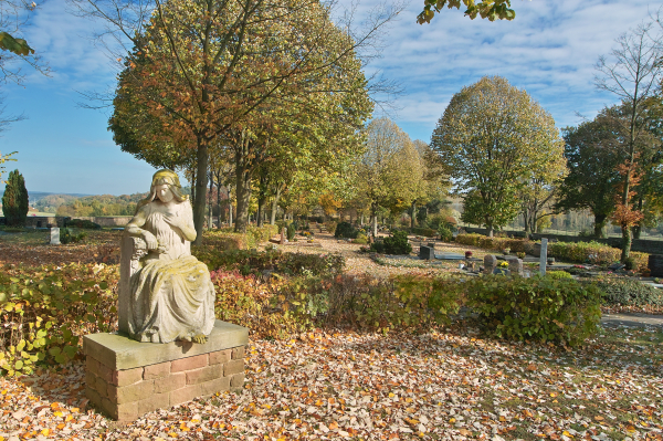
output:
M 191 203 L 177 174 L 159 170 L 125 228 L 119 330 L 138 342 L 204 343 L 214 326 L 214 285 L 191 255 Z

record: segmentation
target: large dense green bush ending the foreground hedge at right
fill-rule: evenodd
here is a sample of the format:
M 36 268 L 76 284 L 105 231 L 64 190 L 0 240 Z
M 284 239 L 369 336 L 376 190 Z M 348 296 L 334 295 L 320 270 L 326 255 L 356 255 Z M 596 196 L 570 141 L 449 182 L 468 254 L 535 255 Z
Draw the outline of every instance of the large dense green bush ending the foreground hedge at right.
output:
M 486 276 L 457 284 L 485 329 L 515 340 L 576 346 L 597 330 L 601 291 L 569 279 Z

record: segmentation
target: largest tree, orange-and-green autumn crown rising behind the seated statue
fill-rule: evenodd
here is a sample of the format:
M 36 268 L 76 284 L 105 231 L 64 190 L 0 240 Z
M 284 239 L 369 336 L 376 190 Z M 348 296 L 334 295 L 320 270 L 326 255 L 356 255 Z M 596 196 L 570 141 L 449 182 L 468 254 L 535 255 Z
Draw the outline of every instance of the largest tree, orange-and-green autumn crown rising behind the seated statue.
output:
M 102 2 L 92 7 L 97 17 L 112 17 Z M 372 31 L 393 14 L 377 19 Z M 317 1 L 156 1 L 149 24 L 136 35 L 117 17 L 115 25 L 134 43 L 118 91 L 159 120 L 164 130 L 155 136 L 176 146 L 194 140 L 196 193 L 207 187 L 209 146 L 221 138 L 235 150 L 238 231 L 245 229 L 256 161 L 251 151 L 264 148 L 272 113 L 317 101 L 325 117 L 338 117 L 338 109 L 347 115 L 357 102 L 344 107 L 343 101 L 366 88 L 355 49 L 367 39 L 336 28 Z M 203 199 L 193 213 L 200 230 Z

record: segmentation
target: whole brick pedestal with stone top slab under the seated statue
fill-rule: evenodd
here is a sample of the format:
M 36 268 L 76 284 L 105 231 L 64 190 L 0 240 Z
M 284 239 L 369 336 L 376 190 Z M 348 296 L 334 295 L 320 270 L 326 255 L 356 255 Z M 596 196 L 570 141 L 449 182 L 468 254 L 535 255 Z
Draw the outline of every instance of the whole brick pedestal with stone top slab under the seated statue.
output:
M 239 389 L 244 384 L 248 338 L 246 328 L 221 321 L 203 345 L 87 335 L 85 393 L 110 418 L 133 421 L 159 408 Z

